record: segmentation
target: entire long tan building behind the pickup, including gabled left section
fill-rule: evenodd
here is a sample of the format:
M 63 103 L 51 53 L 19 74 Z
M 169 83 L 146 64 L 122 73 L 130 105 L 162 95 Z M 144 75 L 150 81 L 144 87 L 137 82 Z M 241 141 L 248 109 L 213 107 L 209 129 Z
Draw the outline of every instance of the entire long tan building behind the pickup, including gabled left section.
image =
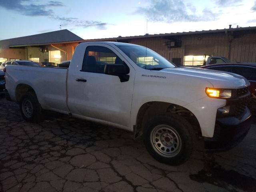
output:
M 62 37 L 63 35 L 65 38 Z M 48 42 L 40 42 L 41 36 L 47 37 Z M 70 60 L 76 46 L 81 42 L 116 41 L 147 46 L 177 65 L 202 65 L 209 55 L 225 57 L 231 62 L 256 63 L 256 27 L 230 27 L 220 30 L 90 40 L 82 40 L 68 30 L 59 30 L 34 35 L 34 44 L 26 42 L 27 37 L 21 37 L 22 43 L 20 38 L 11 39 L 11 44 L 6 44 L 8 40 L 0 41 L 0 59 L 60 62 Z

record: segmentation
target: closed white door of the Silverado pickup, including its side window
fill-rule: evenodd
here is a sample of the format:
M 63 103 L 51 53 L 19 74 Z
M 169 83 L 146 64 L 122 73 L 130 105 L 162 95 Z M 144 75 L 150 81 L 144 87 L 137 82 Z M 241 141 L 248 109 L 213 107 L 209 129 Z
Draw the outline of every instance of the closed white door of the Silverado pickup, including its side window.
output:
M 130 69 L 128 81 L 120 82 L 118 76 L 104 74 L 105 64 L 123 62 Z M 70 69 L 68 76 L 68 106 L 72 114 L 113 126 L 130 127 L 134 68 L 112 46 L 94 43 L 84 47 L 84 59 L 78 69 L 76 72 Z

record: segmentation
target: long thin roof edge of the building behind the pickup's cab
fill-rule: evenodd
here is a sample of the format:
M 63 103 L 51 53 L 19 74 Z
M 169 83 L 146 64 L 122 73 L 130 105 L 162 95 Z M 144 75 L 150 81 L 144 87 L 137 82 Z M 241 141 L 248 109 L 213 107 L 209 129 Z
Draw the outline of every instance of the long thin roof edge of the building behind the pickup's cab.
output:
M 90 42 L 90 41 L 112 41 L 112 40 L 128 40 L 128 39 L 138 39 L 138 38 L 154 38 L 154 37 L 167 37 L 167 36 L 182 36 L 182 35 L 197 35 L 197 34 L 213 34 L 213 33 L 226 33 L 226 32 L 236 32 L 236 31 L 247 31 L 256 30 L 254 27 L 239 27 L 239 28 L 224 28 L 216 30 L 202 30 L 202 31 L 189 31 L 189 32 L 176 32 L 176 33 L 164 33 L 164 34 L 145 34 L 138 36 L 126 36 L 126 37 L 114 37 L 114 38 L 101 38 L 101 39 L 86 39 L 80 42 Z

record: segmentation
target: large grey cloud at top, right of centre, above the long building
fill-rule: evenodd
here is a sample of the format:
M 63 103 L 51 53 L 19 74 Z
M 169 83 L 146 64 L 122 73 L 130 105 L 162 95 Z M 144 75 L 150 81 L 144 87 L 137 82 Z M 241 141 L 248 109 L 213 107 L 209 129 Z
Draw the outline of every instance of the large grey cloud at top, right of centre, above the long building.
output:
M 215 20 L 217 14 L 205 8 L 201 14 L 195 13 L 192 4 L 185 5 L 182 0 L 151 0 L 150 6 L 140 7 L 136 14 L 142 14 L 153 22 L 199 22 Z

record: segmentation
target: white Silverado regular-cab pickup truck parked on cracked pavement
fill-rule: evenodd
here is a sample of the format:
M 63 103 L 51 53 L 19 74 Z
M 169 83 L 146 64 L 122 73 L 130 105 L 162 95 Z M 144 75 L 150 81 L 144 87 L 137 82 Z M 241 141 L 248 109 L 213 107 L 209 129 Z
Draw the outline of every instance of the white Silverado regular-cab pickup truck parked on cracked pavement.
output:
M 52 110 L 128 130 L 156 160 L 178 165 L 196 137 L 218 151 L 246 136 L 249 85 L 236 74 L 176 67 L 143 46 L 86 42 L 68 69 L 6 66 L 5 94 L 29 122 Z

